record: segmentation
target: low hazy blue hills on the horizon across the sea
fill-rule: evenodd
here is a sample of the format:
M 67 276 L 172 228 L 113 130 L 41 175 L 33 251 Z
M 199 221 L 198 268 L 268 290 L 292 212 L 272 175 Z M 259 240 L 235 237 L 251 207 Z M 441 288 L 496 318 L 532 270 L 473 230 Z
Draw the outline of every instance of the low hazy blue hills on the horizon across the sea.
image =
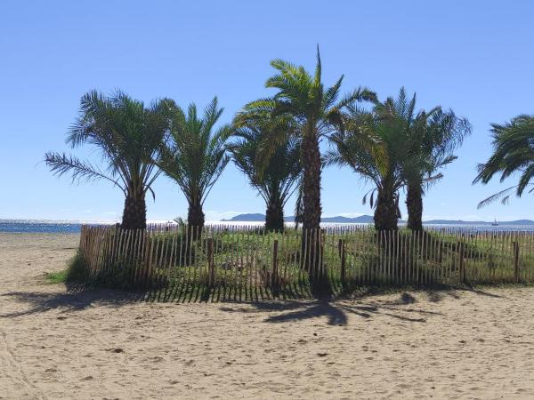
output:
M 265 220 L 265 215 L 260 213 L 239 214 L 229 220 L 222 220 L 225 222 L 262 222 Z M 294 216 L 284 217 L 286 222 L 293 222 Z M 321 222 L 330 223 L 345 223 L 345 224 L 372 224 L 373 217 L 371 215 L 360 215 L 359 217 L 349 218 L 338 215 L 336 217 L 323 217 Z M 399 220 L 399 223 L 406 223 L 405 220 Z M 423 223 L 427 225 L 491 225 L 492 222 L 485 220 L 425 220 Z M 534 220 L 508 220 L 501 221 L 499 225 L 534 225 Z

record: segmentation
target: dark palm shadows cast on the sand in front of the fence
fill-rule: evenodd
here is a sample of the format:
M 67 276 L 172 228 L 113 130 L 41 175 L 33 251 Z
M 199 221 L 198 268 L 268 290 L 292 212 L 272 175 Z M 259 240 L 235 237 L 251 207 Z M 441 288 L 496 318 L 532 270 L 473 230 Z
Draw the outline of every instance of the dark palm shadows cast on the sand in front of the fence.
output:
M 432 302 L 439 302 L 446 297 L 460 299 L 462 291 L 473 292 L 481 296 L 502 298 L 495 293 L 485 292 L 474 287 L 451 288 L 449 290 L 422 290 L 419 293 Z M 235 301 L 222 300 L 224 304 L 220 310 L 224 312 L 263 313 L 271 315 L 265 318 L 267 323 L 286 323 L 310 318 L 326 317 L 329 325 L 347 324 L 348 315 L 360 316 L 364 319 L 374 316 L 387 316 L 410 323 L 425 323 L 428 317 L 440 316 L 441 313 L 415 307 L 417 299 L 410 292 L 398 292 L 395 300 L 373 300 L 371 292 L 361 292 L 352 296 L 351 300 L 333 301 L 327 298 L 311 300 L 255 300 Z M 68 285 L 67 292 L 7 292 L 2 297 L 11 297 L 17 301 L 27 303 L 30 307 L 24 311 L 0 314 L 0 318 L 28 316 L 43 313 L 53 309 L 61 312 L 80 311 L 94 306 L 118 308 L 135 301 L 155 301 L 171 299 L 157 298 L 153 292 L 125 292 L 111 289 L 95 289 L 84 285 Z M 196 301 L 208 300 L 198 296 Z M 212 301 L 216 299 L 212 298 Z M 195 301 L 195 300 L 193 300 Z M 176 302 L 176 301 L 174 301 Z M 252 307 L 239 307 L 247 304 Z M 177 309 L 177 312 L 179 310 Z

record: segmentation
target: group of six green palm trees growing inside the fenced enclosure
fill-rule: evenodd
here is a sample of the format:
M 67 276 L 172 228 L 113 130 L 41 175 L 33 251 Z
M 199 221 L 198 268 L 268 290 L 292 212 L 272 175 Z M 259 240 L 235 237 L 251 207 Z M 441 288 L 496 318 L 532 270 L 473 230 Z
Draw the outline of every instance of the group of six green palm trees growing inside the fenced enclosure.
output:
M 397 228 L 403 189 L 409 228 L 421 229 L 425 191 L 456 158 L 455 150 L 471 132 L 467 120 L 440 107 L 417 111 L 416 96 L 409 98 L 404 89 L 384 101 L 365 87 L 342 96 L 343 76 L 329 87 L 322 82 L 319 49 L 313 73 L 284 60 L 273 60 L 271 66 L 276 73 L 265 86 L 276 92 L 247 103 L 231 124 L 219 127 L 223 108 L 216 98 L 199 116 L 194 104 L 184 110 L 163 99 L 145 106 L 122 92 L 89 92 L 82 97 L 67 143 L 98 148 L 104 166 L 60 153 L 47 153 L 45 162 L 57 175 L 109 180 L 120 188 L 125 194 L 123 228 L 146 227 L 145 196 L 154 195 L 152 184 L 164 173 L 188 201 L 188 224 L 201 229 L 206 196 L 232 159 L 265 201 L 267 229 L 283 230 L 284 206 L 295 191 L 303 228 L 320 228 L 321 171 L 329 164 L 348 165 L 373 183 L 364 202 L 375 208 L 377 229 Z M 501 131 L 521 131 L 528 124 L 531 119 L 523 117 L 510 126 L 495 125 L 496 140 L 501 143 Z M 322 140 L 333 144 L 326 154 L 321 154 Z M 519 133 L 516 140 L 530 143 Z M 490 180 L 501 170 L 503 176 L 509 174 L 503 157 L 514 143 L 498 147 L 503 149 L 481 167 L 477 180 Z M 527 180 L 534 168 L 528 171 Z M 314 237 L 311 254 L 319 251 L 320 236 Z

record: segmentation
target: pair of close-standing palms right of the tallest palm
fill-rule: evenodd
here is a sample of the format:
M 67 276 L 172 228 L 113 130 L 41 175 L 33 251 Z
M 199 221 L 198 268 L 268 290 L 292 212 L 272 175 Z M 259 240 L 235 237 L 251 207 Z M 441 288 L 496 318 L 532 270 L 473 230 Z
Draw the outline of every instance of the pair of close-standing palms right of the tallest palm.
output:
M 374 188 L 369 197 L 375 207 L 376 229 L 397 229 L 401 218 L 399 191 L 407 189 L 408 227 L 423 229 L 423 194 L 441 179 L 440 169 L 456 159 L 454 151 L 471 132 L 465 118 L 435 107 L 416 112 L 401 88 L 396 99 L 375 101 L 371 110 L 351 105 L 344 113 L 344 129 L 332 140 L 336 150 L 328 164 L 349 165 Z

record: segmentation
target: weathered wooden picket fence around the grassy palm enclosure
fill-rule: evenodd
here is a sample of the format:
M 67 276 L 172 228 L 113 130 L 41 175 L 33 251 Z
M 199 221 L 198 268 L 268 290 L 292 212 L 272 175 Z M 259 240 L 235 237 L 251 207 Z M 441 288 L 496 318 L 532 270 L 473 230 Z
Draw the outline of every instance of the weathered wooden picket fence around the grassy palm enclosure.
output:
M 165 300 L 192 292 L 243 300 L 308 296 L 318 280 L 334 293 L 362 285 L 532 283 L 533 249 L 530 232 L 152 225 L 84 226 L 79 253 L 97 284 L 148 288 Z

